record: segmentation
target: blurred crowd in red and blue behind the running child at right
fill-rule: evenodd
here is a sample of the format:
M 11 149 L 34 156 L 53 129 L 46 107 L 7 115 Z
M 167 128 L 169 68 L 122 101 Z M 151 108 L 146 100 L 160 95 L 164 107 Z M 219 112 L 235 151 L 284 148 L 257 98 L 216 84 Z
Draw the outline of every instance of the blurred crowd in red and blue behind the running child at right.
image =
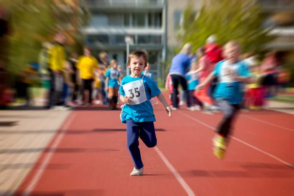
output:
M 186 101 L 190 110 L 214 113 L 219 110 L 213 96 L 218 78 L 201 91 L 196 90 L 196 87 L 213 72 L 215 65 L 225 58 L 222 46 L 216 43 L 216 37 L 212 35 L 207 39 L 205 47 L 197 49 L 196 53 L 191 51 L 192 46 L 188 43 L 172 59 L 165 86 L 170 92 L 172 109 L 176 110 Z M 258 78 L 254 83 L 244 85 L 243 109 L 261 109 L 266 105 L 267 98 L 285 92 L 291 72 L 278 62 L 275 51 L 268 52 L 262 61 L 253 53 L 245 53 L 238 58 L 246 63 L 251 76 Z

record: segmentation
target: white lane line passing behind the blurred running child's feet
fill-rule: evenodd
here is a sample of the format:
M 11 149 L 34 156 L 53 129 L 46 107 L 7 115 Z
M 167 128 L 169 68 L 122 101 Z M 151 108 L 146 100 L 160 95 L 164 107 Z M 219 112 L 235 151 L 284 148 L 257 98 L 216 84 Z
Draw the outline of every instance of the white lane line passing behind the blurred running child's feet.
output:
M 195 119 L 195 118 L 193 118 L 193 117 L 191 117 L 191 116 L 189 116 L 189 115 L 187 115 L 187 114 L 185 114 L 185 113 L 183 113 L 183 112 L 180 112 L 180 111 L 178 111 L 178 112 L 181 113 L 182 115 L 184 115 L 184 116 L 186 116 L 186 117 L 192 119 L 193 121 L 196 121 L 197 123 L 200 123 L 200 124 L 202 124 L 202 125 L 204 125 L 204 126 L 206 126 L 206 127 L 209 127 L 209 128 L 211 128 L 211 129 L 213 129 L 213 130 L 216 130 L 214 127 L 212 127 L 212 126 L 210 126 L 210 125 L 208 125 L 208 124 L 206 124 L 206 123 L 202 123 L 201 121 L 199 121 L 199 120 L 197 120 L 197 119 Z M 270 156 L 271 158 L 273 158 L 273 159 L 275 159 L 275 160 L 277 160 L 277 161 L 279 161 L 279 162 L 281 162 L 281 163 L 283 163 L 283 164 L 285 164 L 285 165 L 287 165 L 287 166 L 289 166 L 289 167 L 291 167 L 291 168 L 294 169 L 294 165 L 292 165 L 292 164 L 290 164 L 290 163 L 288 163 L 288 162 L 286 162 L 286 161 L 284 161 L 284 160 L 282 160 L 282 159 L 280 159 L 280 158 L 278 158 L 278 157 L 276 157 L 276 156 L 274 156 L 274 155 L 272 155 L 272 154 L 270 154 L 270 153 L 268 153 L 268 152 L 266 152 L 266 151 L 264 151 L 264 150 L 262 150 L 262 149 L 259 149 L 258 147 L 254 147 L 254 146 L 252 146 L 252 145 L 250 145 L 250 144 L 248 144 L 248 143 L 246 143 L 246 142 L 244 142 L 244 141 L 242 141 L 242 140 L 240 140 L 240 139 L 238 139 L 238 138 L 235 138 L 235 137 L 233 137 L 233 136 L 230 136 L 230 137 L 231 137 L 232 139 L 234 139 L 234 140 L 236 140 L 236 141 L 238 141 L 238 142 L 240 142 L 240 143 L 242 143 L 242 144 L 244 144 L 244 145 L 246 145 L 246 146 L 248 146 L 248 147 L 251 147 L 251 148 L 253 148 L 253 149 L 255 149 L 255 150 L 257 150 L 257 151 L 259 151 L 259 152 L 261 152 L 261 153 L 263 153 L 263 154 L 265 154 L 265 155 L 268 155 L 268 156 Z

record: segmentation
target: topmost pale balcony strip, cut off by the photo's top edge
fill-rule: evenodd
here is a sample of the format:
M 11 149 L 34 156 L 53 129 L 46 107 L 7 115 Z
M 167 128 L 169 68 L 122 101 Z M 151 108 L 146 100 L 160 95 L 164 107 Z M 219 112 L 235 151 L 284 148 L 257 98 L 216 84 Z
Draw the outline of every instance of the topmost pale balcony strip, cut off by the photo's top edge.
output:
M 164 0 L 86 0 L 92 8 L 163 6 Z

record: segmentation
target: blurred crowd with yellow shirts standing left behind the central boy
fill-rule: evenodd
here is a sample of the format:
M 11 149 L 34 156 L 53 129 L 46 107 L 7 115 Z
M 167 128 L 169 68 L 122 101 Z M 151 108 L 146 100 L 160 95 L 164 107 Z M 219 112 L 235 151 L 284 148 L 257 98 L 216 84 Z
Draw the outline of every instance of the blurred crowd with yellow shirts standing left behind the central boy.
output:
M 18 75 L 15 85 L 15 99 L 24 99 L 27 106 L 34 104 L 30 91 L 34 78 L 41 79 L 42 92 L 39 101 L 46 109 L 70 109 L 75 105 L 108 105 L 117 110 L 119 83 L 123 70 L 115 59 L 108 60 L 106 52 L 100 52 L 98 59 L 92 49 L 84 47 L 84 54 L 72 53 L 66 56 L 66 36 L 57 33 L 55 42 L 43 43 L 38 63 L 29 63 Z M 150 65 L 144 74 L 153 79 Z M 86 96 L 87 95 L 87 96 Z

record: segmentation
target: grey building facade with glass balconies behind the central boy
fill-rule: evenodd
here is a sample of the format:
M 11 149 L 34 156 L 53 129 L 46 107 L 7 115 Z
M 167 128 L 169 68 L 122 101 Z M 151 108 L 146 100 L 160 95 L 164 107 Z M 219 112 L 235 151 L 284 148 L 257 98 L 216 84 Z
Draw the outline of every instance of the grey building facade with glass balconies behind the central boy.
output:
M 92 13 L 84 29 L 87 45 L 108 53 L 126 70 L 125 37 L 131 38 L 129 51 L 147 49 L 151 71 L 160 74 L 160 63 L 166 56 L 166 0 L 87 0 Z

